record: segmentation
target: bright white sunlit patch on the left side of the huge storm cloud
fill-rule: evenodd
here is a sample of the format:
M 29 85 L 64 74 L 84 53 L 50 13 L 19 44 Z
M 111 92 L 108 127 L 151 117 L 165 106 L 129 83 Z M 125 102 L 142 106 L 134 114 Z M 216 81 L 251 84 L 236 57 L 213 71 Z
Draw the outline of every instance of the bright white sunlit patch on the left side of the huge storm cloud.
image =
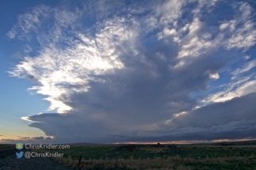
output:
M 29 89 L 48 96 L 45 100 L 51 103 L 50 110 L 71 111 L 72 108 L 63 104 L 59 97 L 69 96 L 73 92 L 86 92 L 90 89 L 89 81 L 101 81 L 89 74 L 107 74 L 124 67 L 118 59 L 116 47 L 124 41 L 136 40 L 136 32 L 128 28 L 125 22 L 124 18 L 106 21 L 96 33 L 95 39 L 82 33 L 77 34 L 76 42 L 66 37 L 66 40 L 73 43 L 71 47 L 44 45 L 38 56 L 25 57 L 10 74 L 16 77 L 32 75 L 40 85 Z M 76 85 L 75 88 L 65 88 L 72 85 Z

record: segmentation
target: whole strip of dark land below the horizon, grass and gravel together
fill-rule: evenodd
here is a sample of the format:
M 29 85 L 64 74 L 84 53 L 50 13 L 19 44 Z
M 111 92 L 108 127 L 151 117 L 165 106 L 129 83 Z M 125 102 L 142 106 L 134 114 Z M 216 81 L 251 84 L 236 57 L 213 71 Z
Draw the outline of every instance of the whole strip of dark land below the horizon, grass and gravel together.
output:
M 82 144 L 71 145 L 70 149 L 33 150 L 64 154 L 55 159 L 17 159 L 17 149 L 13 148 L 14 145 L 0 145 L 0 170 L 256 170 L 255 141 L 197 145 Z

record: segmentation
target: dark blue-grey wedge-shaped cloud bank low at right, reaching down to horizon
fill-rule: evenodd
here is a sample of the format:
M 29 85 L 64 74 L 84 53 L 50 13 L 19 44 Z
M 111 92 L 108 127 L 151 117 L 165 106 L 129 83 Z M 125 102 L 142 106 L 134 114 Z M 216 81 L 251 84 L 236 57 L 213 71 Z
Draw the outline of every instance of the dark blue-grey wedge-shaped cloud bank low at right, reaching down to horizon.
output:
M 255 138 L 255 98 L 256 93 L 251 93 L 173 117 L 162 123 L 168 129 L 165 135 L 172 140 L 181 140 L 186 135 L 190 140 Z

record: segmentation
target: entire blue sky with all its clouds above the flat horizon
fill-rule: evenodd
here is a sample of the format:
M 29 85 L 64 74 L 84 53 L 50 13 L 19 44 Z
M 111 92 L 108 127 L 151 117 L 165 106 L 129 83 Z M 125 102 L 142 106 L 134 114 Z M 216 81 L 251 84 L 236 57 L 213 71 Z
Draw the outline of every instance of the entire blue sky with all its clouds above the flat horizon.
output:
M 256 2 L 1 1 L 0 143 L 256 138 Z

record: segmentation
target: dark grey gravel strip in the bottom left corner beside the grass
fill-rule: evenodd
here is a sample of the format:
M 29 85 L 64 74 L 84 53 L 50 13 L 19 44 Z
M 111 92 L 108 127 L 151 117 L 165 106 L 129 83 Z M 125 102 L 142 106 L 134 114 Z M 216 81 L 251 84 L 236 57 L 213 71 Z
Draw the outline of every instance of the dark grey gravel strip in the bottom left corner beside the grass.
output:
M 14 146 L 14 145 L 13 145 Z M 0 149 L 0 170 L 70 170 L 49 157 L 16 157 L 17 149 Z

